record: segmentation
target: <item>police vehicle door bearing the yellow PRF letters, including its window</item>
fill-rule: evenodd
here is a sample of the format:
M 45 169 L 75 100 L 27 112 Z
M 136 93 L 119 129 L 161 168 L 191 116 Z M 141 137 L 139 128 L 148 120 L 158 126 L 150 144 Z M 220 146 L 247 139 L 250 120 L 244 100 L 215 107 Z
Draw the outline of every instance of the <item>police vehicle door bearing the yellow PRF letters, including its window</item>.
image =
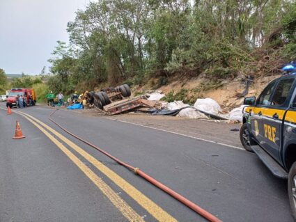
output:
M 269 152 L 274 159 L 280 161 L 279 149 L 281 145 L 281 124 L 283 114 L 287 109 L 287 99 L 293 86 L 295 78 L 281 79 L 267 105 L 261 105 L 260 111 L 263 132 L 261 145 Z

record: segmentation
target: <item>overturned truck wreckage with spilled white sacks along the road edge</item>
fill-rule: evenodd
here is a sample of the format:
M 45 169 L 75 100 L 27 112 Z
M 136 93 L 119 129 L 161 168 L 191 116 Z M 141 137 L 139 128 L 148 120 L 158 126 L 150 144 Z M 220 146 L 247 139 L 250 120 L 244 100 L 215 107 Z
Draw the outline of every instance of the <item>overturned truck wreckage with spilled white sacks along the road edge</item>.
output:
M 98 92 L 87 93 L 89 108 L 96 108 L 102 115 L 115 115 L 126 111 L 138 111 L 152 115 L 180 116 L 185 118 L 205 120 L 242 121 L 244 106 L 233 109 L 231 113 L 222 113 L 221 106 L 210 97 L 197 99 L 194 106 L 182 101 L 161 101 L 165 95 L 162 92 L 148 93 L 131 97 L 130 87 L 125 85 L 110 87 Z M 76 107 L 77 106 L 77 107 Z M 79 107 L 78 107 L 79 106 Z M 82 105 L 68 106 L 68 109 L 81 109 Z

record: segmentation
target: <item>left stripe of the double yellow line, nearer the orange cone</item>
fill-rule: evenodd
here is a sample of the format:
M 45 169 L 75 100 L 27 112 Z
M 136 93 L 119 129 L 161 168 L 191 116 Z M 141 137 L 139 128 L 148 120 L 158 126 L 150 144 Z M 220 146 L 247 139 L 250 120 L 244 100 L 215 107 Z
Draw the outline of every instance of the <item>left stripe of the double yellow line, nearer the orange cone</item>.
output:
M 22 114 L 20 114 L 22 115 Z M 24 116 L 24 115 L 22 115 Z M 143 218 L 137 214 L 137 212 L 128 205 L 125 200 L 120 198 L 112 189 L 109 187 L 98 175 L 93 173 L 81 160 L 79 160 L 75 154 L 70 152 L 65 146 L 60 143 L 54 136 L 49 134 L 45 129 L 40 127 L 36 122 L 30 118 L 24 116 L 27 120 L 33 123 L 42 133 L 44 133 L 54 144 L 56 144 L 73 162 L 79 169 L 104 193 L 105 196 L 111 201 L 111 203 L 125 216 L 129 221 L 144 221 Z

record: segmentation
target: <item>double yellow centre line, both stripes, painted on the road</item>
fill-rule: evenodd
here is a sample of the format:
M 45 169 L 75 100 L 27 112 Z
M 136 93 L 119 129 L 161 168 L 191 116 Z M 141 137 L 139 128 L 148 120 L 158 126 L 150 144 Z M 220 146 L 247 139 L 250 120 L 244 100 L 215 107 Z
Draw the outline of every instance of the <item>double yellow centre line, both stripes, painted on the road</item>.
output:
M 132 207 L 130 207 L 130 205 L 125 202 L 125 200 L 120 198 L 120 196 L 118 196 L 111 189 L 111 187 L 109 187 L 100 177 L 98 177 L 98 175 L 91 171 L 88 166 L 86 166 L 81 160 L 79 160 L 79 158 L 77 158 L 75 154 L 73 154 L 68 148 L 66 148 L 65 145 L 58 141 L 57 138 L 59 138 L 65 144 L 69 145 L 70 148 L 75 150 L 82 157 L 84 157 L 84 159 L 93 164 L 95 168 L 109 177 L 109 179 L 112 180 L 118 187 L 120 187 L 120 189 L 125 191 L 125 193 L 127 193 L 139 205 L 141 205 L 143 209 L 146 209 L 149 214 L 155 217 L 157 221 L 176 221 L 176 219 L 174 219 L 170 214 L 164 211 L 164 209 L 159 207 L 152 200 L 143 195 L 143 193 L 133 187 L 132 184 L 124 180 L 114 171 L 111 171 L 111 169 L 107 166 L 104 166 L 104 164 L 95 159 L 95 157 L 91 156 L 91 154 L 88 154 L 88 152 L 81 149 L 78 145 L 68 140 L 68 138 L 65 138 L 65 136 L 59 134 L 59 132 L 56 132 L 56 130 L 52 129 L 52 127 L 49 127 L 44 122 L 41 122 L 40 120 L 27 113 L 23 113 L 21 111 L 15 111 L 15 113 L 20 114 L 21 116 L 29 120 L 38 129 L 40 129 L 40 131 L 45 134 L 45 136 L 47 136 L 62 152 L 64 152 L 69 157 L 69 159 L 71 159 L 71 161 L 76 164 L 76 166 L 78 166 L 78 168 L 98 187 L 98 189 L 100 189 L 100 191 L 102 191 L 102 193 L 104 193 L 104 195 L 109 198 L 111 203 L 123 214 L 123 216 L 125 216 L 128 221 L 144 220 L 139 214 L 137 214 L 137 212 L 134 211 L 134 209 L 132 209 Z M 56 138 L 53 135 L 56 136 Z

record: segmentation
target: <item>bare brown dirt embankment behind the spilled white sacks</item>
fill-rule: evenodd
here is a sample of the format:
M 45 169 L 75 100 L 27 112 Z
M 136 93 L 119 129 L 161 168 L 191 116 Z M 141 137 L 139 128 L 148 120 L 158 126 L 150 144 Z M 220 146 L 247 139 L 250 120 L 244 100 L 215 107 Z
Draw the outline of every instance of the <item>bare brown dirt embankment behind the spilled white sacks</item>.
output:
M 249 93 L 245 95 L 245 97 L 253 95 L 258 96 L 263 88 L 265 88 L 272 79 L 277 77 L 280 77 L 280 75 L 277 74 L 253 79 L 249 86 Z M 155 87 L 151 84 L 146 84 L 145 86 L 135 86 L 132 88 L 132 91 L 134 93 L 143 93 L 151 90 L 151 88 Z M 172 78 L 169 80 L 169 84 L 161 86 L 156 90 L 168 95 L 171 92 L 178 93 L 180 90 L 184 89 L 187 92 L 185 100 L 189 99 L 194 102 L 198 98 L 210 97 L 216 100 L 224 111 L 228 112 L 242 104 L 244 98 L 240 97 L 240 95 L 244 92 L 245 88 L 246 79 L 243 77 L 215 82 L 201 75 L 194 79 L 180 80 Z

